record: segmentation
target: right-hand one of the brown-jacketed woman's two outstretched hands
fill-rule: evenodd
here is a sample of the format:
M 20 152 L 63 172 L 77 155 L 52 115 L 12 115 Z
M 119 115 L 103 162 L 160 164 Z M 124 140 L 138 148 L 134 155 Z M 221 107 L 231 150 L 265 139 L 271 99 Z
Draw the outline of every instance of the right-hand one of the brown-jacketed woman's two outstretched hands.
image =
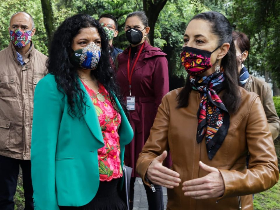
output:
M 225 184 L 220 171 L 199 161 L 199 167 L 209 172 L 204 177 L 185 181 L 182 190 L 185 196 L 194 199 L 207 199 L 222 196 L 225 192 Z

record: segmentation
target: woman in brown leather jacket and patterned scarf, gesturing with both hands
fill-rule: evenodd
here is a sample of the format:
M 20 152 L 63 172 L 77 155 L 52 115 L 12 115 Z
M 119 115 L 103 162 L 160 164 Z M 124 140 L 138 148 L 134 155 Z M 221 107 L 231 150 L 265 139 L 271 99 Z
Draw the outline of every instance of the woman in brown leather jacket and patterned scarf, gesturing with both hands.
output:
M 224 15 L 192 18 L 181 61 L 186 85 L 162 99 L 136 170 L 145 184 L 168 188 L 168 210 L 253 209 L 251 194 L 277 183 L 279 170 L 260 99 L 238 85 L 232 27 Z M 165 150 L 172 154 L 171 169 L 162 166 Z

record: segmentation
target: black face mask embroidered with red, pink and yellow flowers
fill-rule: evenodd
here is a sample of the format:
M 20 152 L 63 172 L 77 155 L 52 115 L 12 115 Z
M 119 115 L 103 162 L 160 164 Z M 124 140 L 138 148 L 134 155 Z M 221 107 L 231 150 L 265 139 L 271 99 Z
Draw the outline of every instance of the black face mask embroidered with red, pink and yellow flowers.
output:
M 202 74 L 212 67 L 210 57 L 211 54 L 218 48 L 219 47 L 217 47 L 212 52 L 209 52 L 192 47 L 183 47 L 183 51 L 181 53 L 182 65 L 190 75 L 195 76 L 198 74 Z

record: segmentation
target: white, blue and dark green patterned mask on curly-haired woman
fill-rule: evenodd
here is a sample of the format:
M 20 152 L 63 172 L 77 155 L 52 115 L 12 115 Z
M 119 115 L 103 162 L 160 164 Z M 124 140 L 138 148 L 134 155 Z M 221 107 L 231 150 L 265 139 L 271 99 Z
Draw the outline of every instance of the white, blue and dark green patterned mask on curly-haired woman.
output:
M 97 68 L 100 56 L 101 48 L 92 42 L 82 49 L 75 50 L 71 61 L 76 67 L 94 70 Z

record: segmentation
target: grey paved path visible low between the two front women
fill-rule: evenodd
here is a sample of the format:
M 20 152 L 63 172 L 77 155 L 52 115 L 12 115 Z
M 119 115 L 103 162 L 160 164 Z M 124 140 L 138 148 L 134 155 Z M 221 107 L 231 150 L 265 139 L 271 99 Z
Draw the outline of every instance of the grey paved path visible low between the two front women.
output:
M 166 188 L 163 187 L 162 191 L 163 191 L 163 201 L 164 201 L 164 209 L 165 209 L 167 203 L 167 190 Z M 141 178 L 136 178 L 135 181 L 133 210 L 148 210 L 146 190 L 144 188 Z

